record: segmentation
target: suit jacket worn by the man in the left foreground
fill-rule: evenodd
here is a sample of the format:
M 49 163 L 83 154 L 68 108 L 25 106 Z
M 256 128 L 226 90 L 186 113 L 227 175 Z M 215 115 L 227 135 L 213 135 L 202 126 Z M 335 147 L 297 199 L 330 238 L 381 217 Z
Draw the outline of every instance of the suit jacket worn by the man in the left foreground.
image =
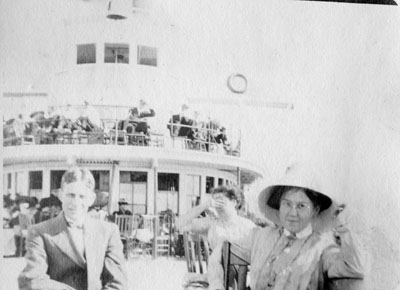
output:
M 87 217 L 82 230 L 84 255 L 75 245 L 63 213 L 32 226 L 26 242 L 27 265 L 18 277 L 19 289 L 126 290 L 117 226 Z

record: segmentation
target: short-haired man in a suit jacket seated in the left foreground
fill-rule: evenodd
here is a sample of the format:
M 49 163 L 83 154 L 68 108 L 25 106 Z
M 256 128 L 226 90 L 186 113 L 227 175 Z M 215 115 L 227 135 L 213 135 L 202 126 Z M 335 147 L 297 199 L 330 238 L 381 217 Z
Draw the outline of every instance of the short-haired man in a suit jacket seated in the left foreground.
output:
M 60 192 L 63 212 L 29 230 L 19 289 L 127 289 L 117 226 L 91 219 L 87 213 L 96 197 L 94 185 L 87 169 L 65 172 Z

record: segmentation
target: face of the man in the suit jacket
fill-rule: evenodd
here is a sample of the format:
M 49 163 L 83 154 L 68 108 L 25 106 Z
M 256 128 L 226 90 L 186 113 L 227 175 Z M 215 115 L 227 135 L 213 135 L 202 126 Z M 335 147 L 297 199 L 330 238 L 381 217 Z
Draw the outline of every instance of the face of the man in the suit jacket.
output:
M 61 192 L 65 216 L 72 221 L 83 221 L 95 197 L 82 182 L 66 184 Z

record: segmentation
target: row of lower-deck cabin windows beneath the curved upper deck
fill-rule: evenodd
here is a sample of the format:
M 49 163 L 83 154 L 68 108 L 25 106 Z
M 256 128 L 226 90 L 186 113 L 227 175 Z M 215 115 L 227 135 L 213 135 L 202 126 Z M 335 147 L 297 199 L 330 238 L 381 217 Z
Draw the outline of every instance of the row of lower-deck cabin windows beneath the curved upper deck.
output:
M 50 171 L 50 190 L 60 188 L 61 178 L 64 170 Z M 95 179 L 95 189 L 98 191 L 109 192 L 110 189 L 110 171 L 108 170 L 92 170 Z M 15 192 L 21 193 L 21 181 L 23 172 L 15 174 Z M 137 214 L 147 213 L 147 172 L 142 171 L 121 171 L 119 198 L 127 201 L 129 209 Z M 179 174 L 177 173 L 158 173 L 158 193 L 157 193 L 157 209 L 159 212 L 172 210 L 178 213 L 180 188 Z M 206 193 L 211 192 L 211 188 L 217 186 L 215 178 L 206 177 Z M 29 195 L 36 196 L 43 189 L 43 171 L 29 172 Z M 232 181 L 218 178 L 218 186 L 232 184 Z M 7 188 L 11 189 L 12 173 L 7 174 Z M 185 177 L 185 188 L 182 190 L 185 194 L 186 209 L 196 206 L 199 203 L 201 192 L 201 176 L 187 175 Z M 39 194 L 40 195 L 40 194 Z

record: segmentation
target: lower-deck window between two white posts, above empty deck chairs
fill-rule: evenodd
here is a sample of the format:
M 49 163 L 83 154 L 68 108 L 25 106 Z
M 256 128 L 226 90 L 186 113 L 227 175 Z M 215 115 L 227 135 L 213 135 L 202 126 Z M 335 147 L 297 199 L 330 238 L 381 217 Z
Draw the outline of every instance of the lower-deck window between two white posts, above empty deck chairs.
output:
M 147 213 L 147 172 L 121 171 L 119 198 L 128 202 L 134 214 Z

